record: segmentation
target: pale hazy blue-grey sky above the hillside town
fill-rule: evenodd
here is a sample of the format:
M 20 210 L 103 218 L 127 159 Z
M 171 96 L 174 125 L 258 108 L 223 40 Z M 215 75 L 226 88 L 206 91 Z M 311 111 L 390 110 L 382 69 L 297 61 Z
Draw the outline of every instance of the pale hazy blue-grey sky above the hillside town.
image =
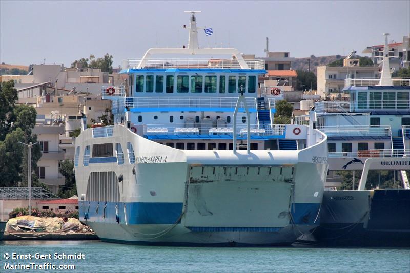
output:
M 6 1 L 0 0 L 0 62 L 64 64 L 81 57 L 141 58 L 151 47 L 188 44 L 189 15 L 213 28 L 201 47 L 269 51 L 291 57 L 361 53 L 402 41 L 410 33 L 410 0 L 403 1 Z M 384 22 L 383 22 L 384 21 Z M 364 55 L 364 54 L 362 54 Z

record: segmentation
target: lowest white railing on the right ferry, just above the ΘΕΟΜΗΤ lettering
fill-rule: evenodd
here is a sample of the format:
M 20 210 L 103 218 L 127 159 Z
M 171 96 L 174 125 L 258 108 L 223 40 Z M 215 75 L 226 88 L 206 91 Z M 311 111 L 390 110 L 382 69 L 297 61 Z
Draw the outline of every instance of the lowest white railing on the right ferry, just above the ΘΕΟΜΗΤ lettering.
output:
M 378 158 L 378 157 L 403 157 L 410 156 L 410 149 L 382 149 L 382 150 L 363 150 L 355 152 L 331 152 L 328 154 L 329 158 Z

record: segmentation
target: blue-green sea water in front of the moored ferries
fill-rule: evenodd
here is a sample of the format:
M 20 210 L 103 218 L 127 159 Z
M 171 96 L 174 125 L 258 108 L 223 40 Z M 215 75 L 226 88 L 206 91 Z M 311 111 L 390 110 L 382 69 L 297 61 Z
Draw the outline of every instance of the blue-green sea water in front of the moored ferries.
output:
M 84 253 L 85 260 L 4 258 L 5 253 L 53 256 L 63 252 Z M 134 246 L 99 241 L 3 241 L 0 253 L 0 272 L 11 271 L 4 270 L 5 263 L 45 262 L 74 264 L 75 270 L 67 270 L 72 272 L 410 272 L 410 248 L 209 248 Z

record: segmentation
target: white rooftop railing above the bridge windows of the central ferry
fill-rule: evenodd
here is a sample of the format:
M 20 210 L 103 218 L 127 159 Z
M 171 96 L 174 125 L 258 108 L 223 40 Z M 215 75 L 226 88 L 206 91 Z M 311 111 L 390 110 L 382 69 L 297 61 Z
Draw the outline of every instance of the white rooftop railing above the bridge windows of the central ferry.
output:
M 122 69 L 137 68 L 141 59 L 125 59 Z M 237 60 L 226 59 L 147 59 L 141 68 L 227 68 L 227 69 L 265 69 L 264 60 L 245 60 L 248 67 L 241 67 Z

